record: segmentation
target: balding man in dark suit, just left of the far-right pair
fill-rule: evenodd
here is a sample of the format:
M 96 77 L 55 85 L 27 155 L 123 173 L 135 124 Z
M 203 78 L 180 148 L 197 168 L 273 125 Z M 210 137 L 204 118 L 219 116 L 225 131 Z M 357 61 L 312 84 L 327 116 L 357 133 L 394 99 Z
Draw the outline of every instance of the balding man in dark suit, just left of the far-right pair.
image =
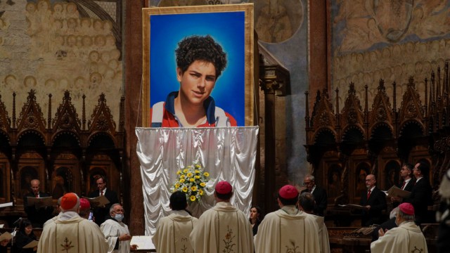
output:
M 380 224 L 383 219 L 383 210 L 386 209 L 386 194 L 376 187 L 375 175 L 366 176 L 366 188 L 361 195 L 359 205 L 366 207 L 363 209 L 361 218 L 361 226 L 371 226 L 372 224 Z

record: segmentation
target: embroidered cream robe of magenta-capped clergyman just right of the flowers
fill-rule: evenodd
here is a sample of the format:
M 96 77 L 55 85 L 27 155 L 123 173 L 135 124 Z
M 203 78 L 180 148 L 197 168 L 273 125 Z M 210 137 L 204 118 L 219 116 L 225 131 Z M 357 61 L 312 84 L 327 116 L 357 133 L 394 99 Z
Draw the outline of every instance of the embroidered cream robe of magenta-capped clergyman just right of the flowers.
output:
M 195 253 L 253 252 L 252 225 L 229 202 L 218 202 L 204 212 L 190 239 Z

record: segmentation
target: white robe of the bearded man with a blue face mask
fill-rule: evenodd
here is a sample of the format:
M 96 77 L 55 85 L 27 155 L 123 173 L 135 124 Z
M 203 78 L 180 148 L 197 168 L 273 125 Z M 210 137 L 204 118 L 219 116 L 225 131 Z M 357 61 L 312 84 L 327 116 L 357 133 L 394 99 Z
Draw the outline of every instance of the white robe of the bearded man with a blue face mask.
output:
M 119 241 L 119 249 L 114 249 L 120 235 L 129 234 L 128 226 L 123 222 L 115 221 L 114 219 L 107 219 L 101 223 L 101 231 L 108 240 L 108 253 L 129 253 L 131 252 L 130 240 Z

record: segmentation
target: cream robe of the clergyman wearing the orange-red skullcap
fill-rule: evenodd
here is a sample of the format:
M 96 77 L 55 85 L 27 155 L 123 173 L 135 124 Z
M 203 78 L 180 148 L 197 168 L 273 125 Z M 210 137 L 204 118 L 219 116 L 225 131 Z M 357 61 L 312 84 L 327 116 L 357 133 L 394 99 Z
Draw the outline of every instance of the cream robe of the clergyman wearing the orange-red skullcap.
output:
M 65 212 L 42 231 L 38 253 L 107 252 L 108 243 L 100 228 L 76 212 Z

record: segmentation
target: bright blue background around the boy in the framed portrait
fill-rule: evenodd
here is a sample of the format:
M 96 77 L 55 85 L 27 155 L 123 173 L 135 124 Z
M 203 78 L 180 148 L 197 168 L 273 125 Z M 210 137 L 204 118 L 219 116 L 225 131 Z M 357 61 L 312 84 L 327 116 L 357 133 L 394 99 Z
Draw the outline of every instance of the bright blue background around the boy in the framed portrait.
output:
M 245 124 L 245 13 L 150 15 L 150 106 L 179 90 L 175 49 L 192 35 L 209 34 L 222 46 L 227 65 L 211 96 L 238 126 Z

